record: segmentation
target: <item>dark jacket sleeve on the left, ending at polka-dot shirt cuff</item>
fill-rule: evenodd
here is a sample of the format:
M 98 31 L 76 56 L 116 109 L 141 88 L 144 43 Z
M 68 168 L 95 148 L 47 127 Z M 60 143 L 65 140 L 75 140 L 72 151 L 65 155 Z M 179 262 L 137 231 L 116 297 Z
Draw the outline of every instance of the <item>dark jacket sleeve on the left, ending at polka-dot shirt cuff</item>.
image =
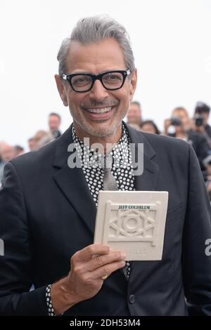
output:
M 45 291 L 32 286 L 32 247 L 25 199 L 15 167 L 8 162 L 0 188 L 0 315 L 47 315 Z M 2 254 L 2 253 L 0 253 Z

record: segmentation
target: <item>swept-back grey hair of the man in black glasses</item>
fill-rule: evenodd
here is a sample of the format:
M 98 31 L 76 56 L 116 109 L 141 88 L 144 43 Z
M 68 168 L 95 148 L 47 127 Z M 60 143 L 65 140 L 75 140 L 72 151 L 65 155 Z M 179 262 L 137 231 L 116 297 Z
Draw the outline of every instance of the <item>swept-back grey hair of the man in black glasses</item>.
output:
M 62 74 L 68 73 L 66 59 L 72 41 L 77 41 L 82 45 L 88 45 L 108 38 L 113 38 L 117 41 L 117 44 L 120 45 L 124 53 L 127 69 L 130 72 L 134 72 L 134 54 L 126 29 L 108 15 L 96 15 L 79 20 L 76 27 L 72 30 L 70 37 L 63 40 L 57 55 L 60 77 Z

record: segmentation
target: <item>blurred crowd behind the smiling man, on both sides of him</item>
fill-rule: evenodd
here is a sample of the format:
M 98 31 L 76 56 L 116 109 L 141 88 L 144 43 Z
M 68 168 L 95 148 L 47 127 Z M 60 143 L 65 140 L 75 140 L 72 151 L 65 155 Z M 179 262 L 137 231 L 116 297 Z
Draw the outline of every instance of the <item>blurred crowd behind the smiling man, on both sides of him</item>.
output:
M 211 126 L 208 124 L 209 115 L 210 107 L 202 102 L 196 104 L 192 117 L 189 116 L 184 107 L 175 107 L 170 117 L 165 119 L 163 131 L 160 131 L 152 119 L 143 119 L 141 104 L 138 101 L 133 101 L 127 114 L 127 124 L 139 131 L 180 138 L 190 143 L 198 157 L 211 201 Z M 28 150 L 38 150 L 59 138 L 61 135 L 60 121 L 60 115 L 51 112 L 49 114 L 49 131 L 39 130 L 29 138 L 27 141 Z M 25 150 L 20 145 L 11 146 L 5 142 L 0 142 L 0 183 L 6 162 L 24 152 Z

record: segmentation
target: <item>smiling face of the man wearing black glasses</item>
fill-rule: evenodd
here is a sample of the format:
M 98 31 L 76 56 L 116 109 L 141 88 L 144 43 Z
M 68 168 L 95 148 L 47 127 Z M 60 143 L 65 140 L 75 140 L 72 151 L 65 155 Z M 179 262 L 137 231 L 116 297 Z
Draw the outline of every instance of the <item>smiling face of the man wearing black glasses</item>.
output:
M 68 72 L 101 74 L 113 70 L 128 70 L 122 48 L 114 39 L 82 45 L 74 41 L 67 58 Z M 91 91 L 77 93 L 68 81 L 55 76 L 60 97 L 69 106 L 79 138 L 108 138 L 117 142 L 122 131 L 122 119 L 127 114 L 136 88 L 136 71 L 124 81 L 122 88 L 108 91 L 96 80 Z

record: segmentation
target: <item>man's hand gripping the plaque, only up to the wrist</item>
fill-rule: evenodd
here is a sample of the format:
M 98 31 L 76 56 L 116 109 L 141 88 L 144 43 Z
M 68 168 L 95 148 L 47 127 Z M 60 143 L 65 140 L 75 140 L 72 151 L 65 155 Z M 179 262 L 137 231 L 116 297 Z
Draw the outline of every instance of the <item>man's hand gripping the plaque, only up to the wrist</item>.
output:
M 106 245 L 92 244 L 75 253 L 67 277 L 67 289 L 78 301 L 92 298 L 103 285 L 102 277 L 125 265 L 125 253 Z

